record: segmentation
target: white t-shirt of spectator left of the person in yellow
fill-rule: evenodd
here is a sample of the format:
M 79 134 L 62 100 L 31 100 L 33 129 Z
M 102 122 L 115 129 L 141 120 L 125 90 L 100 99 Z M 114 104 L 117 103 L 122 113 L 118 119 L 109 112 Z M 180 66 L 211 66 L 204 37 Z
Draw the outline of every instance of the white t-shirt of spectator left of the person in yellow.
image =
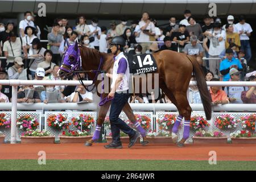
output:
M 212 31 L 208 31 L 210 34 L 214 34 Z M 216 38 L 222 37 L 223 40 L 219 42 L 219 45 L 216 47 L 213 47 L 212 38 L 210 39 L 210 47 L 209 47 L 209 55 L 211 56 L 219 56 L 220 53 L 225 49 L 225 40 L 226 40 L 226 32 L 224 30 L 221 30 L 220 34 L 215 35 Z

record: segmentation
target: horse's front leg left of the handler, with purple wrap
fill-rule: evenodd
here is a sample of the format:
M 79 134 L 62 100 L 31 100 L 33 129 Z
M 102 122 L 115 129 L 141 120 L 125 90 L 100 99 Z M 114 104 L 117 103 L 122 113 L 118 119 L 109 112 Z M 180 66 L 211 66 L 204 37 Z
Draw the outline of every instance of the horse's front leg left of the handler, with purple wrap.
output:
M 100 138 L 101 127 L 102 127 L 102 124 L 104 123 L 106 114 L 108 113 L 110 104 L 111 104 L 111 101 L 106 102 L 106 104 L 100 107 L 100 110 L 98 111 L 96 130 L 94 131 L 93 138 L 88 140 L 85 143 L 85 146 L 92 146 L 93 142 L 97 141 Z

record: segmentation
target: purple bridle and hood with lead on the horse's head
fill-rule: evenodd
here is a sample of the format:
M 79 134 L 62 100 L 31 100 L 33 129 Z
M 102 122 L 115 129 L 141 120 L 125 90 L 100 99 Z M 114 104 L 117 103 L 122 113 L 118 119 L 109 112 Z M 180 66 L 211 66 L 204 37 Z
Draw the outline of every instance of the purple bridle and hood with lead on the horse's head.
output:
M 70 53 L 71 52 L 71 53 Z M 70 58 L 73 59 L 70 60 Z M 95 82 L 96 82 L 96 79 L 98 77 L 98 74 L 101 72 L 101 67 L 103 65 L 103 61 L 104 59 L 101 57 L 100 58 L 100 64 L 98 65 L 98 69 L 97 70 L 91 70 L 91 71 L 77 71 L 77 69 L 80 69 L 81 68 L 81 65 L 82 65 L 82 61 L 81 61 L 81 55 L 80 55 L 80 49 L 78 48 L 78 44 L 77 42 L 75 43 L 75 45 L 72 45 L 72 46 L 69 46 L 68 45 L 68 49 L 67 51 L 65 51 L 64 53 L 64 59 L 63 59 L 63 65 L 65 65 L 66 67 L 70 68 L 70 69 L 65 69 L 63 67 L 60 67 L 60 69 L 62 71 L 65 71 L 67 72 L 68 74 L 71 74 L 71 73 L 75 73 L 78 77 L 79 77 L 79 81 L 80 81 L 80 84 L 82 86 L 84 86 L 84 88 L 88 91 L 88 92 L 91 92 L 95 85 L 93 86 L 93 88 L 91 90 L 88 90 L 88 88 L 84 85 L 84 82 L 82 82 L 81 80 L 81 77 L 79 75 L 79 72 L 92 72 L 92 73 L 96 73 L 96 75 L 94 76 L 93 78 L 93 82 L 91 85 L 93 85 Z M 75 62 L 75 63 L 74 63 Z M 98 104 L 99 106 L 102 106 L 104 105 L 106 102 L 108 101 L 111 101 L 113 100 L 113 98 L 108 98 L 108 97 L 105 97 L 105 98 L 102 98 L 102 94 L 103 94 L 103 91 L 104 91 L 104 76 L 103 76 L 103 73 L 102 73 L 102 78 L 101 78 L 101 81 L 102 81 L 102 86 L 101 86 L 101 89 L 102 89 L 102 92 L 101 92 L 101 101 L 100 103 Z M 88 86 L 91 86 L 91 85 L 88 85 Z

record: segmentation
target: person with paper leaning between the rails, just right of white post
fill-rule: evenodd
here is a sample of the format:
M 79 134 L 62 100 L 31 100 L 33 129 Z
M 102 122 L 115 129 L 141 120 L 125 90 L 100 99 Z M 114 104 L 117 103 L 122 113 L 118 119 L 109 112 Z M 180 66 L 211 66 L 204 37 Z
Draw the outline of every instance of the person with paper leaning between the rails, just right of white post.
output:
M 26 102 L 26 103 L 37 103 L 41 102 L 38 92 L 35 91 L 33 85 L 26 85 L 23 91 L 18 92 L 17 102 Z

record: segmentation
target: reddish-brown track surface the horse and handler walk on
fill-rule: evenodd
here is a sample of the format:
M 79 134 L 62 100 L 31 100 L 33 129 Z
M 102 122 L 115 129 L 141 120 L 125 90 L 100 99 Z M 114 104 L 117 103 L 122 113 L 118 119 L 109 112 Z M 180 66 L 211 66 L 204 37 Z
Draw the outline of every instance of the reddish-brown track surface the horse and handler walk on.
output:
M 256 161 L 255 144 L 123 144 L 122 149 L 105 149 L 105 144 L 1 144 L 0 159 L 38 159 L 38 152 L 45 151 L 47 159 L 208 160 L 209 151 L 216 151 L 217 160 Z

